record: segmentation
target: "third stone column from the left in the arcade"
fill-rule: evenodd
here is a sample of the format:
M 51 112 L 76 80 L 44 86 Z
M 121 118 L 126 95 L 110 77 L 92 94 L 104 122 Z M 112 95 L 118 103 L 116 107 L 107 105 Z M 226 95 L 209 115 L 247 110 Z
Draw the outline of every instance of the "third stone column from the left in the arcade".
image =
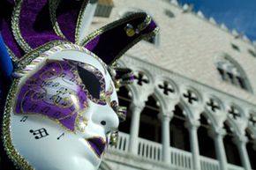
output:
M 200 170 L 200 149 L 198 141 L 198 128 L 200 127 L 199 121 L 186 122 L 185 127 L 189 130 L 190 145 L 192 150 L 192 162 L 194 170 Z

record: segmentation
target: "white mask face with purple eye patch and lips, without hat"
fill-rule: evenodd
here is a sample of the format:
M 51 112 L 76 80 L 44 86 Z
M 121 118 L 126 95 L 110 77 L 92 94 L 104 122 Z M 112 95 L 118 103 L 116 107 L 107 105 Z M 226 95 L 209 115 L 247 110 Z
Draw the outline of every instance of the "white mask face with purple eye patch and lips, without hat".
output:
M 96 170 L 119 123 L 114 83 L 93 54 L 55 49 L 12 86 L 4 146 L 24 169 Z

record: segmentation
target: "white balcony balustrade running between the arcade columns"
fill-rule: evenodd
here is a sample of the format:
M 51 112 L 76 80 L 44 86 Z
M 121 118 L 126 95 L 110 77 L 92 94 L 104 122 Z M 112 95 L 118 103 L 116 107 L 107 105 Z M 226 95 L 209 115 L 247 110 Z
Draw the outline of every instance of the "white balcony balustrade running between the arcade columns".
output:
M 117 146 L 111 146 L 109 148 L 110 151 L 128 154 L 129 138 L 130 136 L 128 134 L 119 132 Z M 162 162 L 162 144 L 139 138 L 138 146 L 137 156 L 151 162 Z M 182 170 L 193 169 L 191 152 L 185 152 L 173 147 L 169 147 L 169 152 L 171 167 L 176 167 L 176 169 Z M 203 156 L 200 156 L 200 166 L 201 170 L 221 170 L 218 160 L 209 159 Z M 229 164 L 228 170 L 245 170 L 245 168 Z

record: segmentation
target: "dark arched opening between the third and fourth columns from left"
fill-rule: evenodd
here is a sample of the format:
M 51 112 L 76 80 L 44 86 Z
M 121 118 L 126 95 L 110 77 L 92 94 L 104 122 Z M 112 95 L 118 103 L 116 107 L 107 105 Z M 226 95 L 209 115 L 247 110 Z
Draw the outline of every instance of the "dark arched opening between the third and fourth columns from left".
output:
M 198 139 L 200 146 L 200 155 L 216 159 L 215 153 L 215 142 L 212 137 L 209 137 L 209 130 L 212 127 L 207 122 L 207 118 L 205 115 L 200 115 L 200 128 L 198 129 Z

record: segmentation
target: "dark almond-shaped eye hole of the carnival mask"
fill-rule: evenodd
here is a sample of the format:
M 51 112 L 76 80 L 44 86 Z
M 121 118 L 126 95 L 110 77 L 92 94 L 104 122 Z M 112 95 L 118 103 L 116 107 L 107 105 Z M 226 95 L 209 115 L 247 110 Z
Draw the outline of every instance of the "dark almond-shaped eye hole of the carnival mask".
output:
M 82 79 L 84 85 L 86 85 L 88 92 L 97 100 L 100 99 L 101 84 L 99 79 L 94 73 L 80 67 L 78 65 L 79 77 Z

